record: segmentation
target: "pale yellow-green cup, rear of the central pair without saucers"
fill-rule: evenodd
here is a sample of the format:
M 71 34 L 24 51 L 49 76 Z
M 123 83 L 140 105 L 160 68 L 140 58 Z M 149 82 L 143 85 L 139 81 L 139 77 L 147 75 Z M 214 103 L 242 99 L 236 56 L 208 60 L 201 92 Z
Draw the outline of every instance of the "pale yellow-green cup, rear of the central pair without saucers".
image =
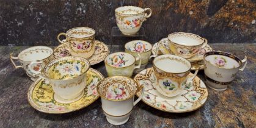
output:
M 152 51 L 152 44 L 143 40 L 133 40 L 125 44 L 125 52 L 138 57 L 141 55 L 141 65 L 147 64 Z M 136 65 L 139 61 L 136 61 Z

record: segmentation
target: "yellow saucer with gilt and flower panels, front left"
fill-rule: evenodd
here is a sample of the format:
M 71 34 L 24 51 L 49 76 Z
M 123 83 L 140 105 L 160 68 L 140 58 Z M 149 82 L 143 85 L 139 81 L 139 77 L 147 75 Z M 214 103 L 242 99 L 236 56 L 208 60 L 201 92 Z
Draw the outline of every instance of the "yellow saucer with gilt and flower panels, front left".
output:
M 84 88 L 84 95 L 81 99 L 71 103 L 60 103 L 54 98 L 53 88 L 45 79 L 37 79 L 27 93 L 29 104 L 36 110 L 44 113 L 68 113 L 84 108 L 96 101 L 100 96 L 97 93 L 97 84 L 103 80 L 103 75 L 96 69 L 90 68 L 86 74 L 87 86 Z

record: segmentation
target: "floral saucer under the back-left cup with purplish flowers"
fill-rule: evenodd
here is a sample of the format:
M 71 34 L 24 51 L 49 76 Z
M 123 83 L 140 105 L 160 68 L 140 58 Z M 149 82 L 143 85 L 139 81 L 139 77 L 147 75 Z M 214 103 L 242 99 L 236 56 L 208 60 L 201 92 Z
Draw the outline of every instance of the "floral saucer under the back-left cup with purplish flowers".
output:
M 101 41 L 95 40 L 95 52 L 93 53 L 92 57 L 90 57 L 88 60 L 90 62 L 90 65 L 95 65 L 97 63 L 102 62 L 106 56 L 109 54 L 109 48 L 106 44 L 104 44 Z M 70 56 L 70 52 L 67 49 L 67 46 L 65 44 L 60 44 L 53 50 L 53 57 L 54 59 L 60 58 L 60 57 L 66 57 Z

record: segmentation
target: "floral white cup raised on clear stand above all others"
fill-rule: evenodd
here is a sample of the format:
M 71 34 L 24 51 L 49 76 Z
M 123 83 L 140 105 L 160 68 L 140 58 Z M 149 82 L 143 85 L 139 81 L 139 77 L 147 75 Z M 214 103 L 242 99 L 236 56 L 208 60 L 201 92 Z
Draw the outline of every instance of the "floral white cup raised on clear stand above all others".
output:
M 149 13 L 145 13 L 149 11 Z M 124 35 L 136 34 L 142 23 L 152 15 L 149 8 L 142 9 L 135 6 L 123 6 L 115 9 L 115 21 Z

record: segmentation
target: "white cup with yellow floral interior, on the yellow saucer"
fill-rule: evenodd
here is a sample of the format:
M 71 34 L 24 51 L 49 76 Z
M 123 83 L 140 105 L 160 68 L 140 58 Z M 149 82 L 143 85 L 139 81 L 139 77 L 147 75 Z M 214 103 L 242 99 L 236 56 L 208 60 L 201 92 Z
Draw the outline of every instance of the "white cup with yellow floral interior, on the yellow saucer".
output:
M 51 84 L 54 99 L 61 103 L 75 102 L 83 96 L 86 87 L 86 72 L 90 62 L 82 57 L 62 57 L 48 63 L 45 68 L 35 70 L 35 65 L 42 62 L 32 62 L 29 69 Z

